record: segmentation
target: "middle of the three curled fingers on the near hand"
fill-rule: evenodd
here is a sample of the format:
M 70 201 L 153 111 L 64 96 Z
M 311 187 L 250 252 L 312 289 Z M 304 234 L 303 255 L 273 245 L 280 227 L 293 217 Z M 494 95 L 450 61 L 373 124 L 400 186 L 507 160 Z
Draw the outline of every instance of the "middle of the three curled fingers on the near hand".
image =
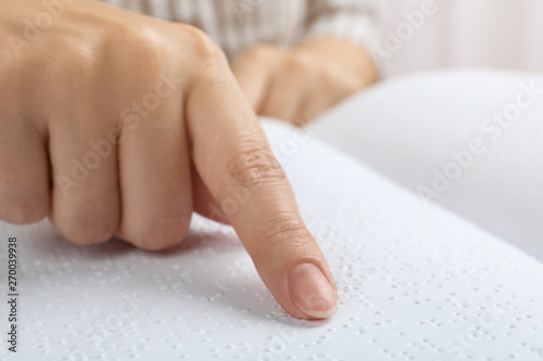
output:
M 49 127 L 54 181 L 50 218 L 77 244 L 104 242 L 118 228 L 116 149 L 102 119 L 103 114 L 81 102 Z

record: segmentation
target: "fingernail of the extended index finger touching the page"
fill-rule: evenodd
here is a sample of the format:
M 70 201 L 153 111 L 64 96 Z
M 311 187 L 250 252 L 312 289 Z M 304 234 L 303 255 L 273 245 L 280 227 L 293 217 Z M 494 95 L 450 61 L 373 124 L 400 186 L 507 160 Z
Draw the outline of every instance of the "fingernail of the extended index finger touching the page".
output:
M 338 298 L 320 269 L 313 263 L 296 266 L 290 273 L 290 295 L 305 314 L 327 319 L 338 311 Z

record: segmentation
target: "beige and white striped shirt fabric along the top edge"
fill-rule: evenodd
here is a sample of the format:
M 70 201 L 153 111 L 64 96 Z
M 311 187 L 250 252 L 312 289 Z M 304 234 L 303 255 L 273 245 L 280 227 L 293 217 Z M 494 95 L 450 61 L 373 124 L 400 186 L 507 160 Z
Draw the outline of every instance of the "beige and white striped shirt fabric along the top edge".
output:
M 293 46 L 330 35 L 364 47 L 379 42 L 377 0 L 105 0 L 140 13 L 198 26 L 232 59 L 270 42 Z

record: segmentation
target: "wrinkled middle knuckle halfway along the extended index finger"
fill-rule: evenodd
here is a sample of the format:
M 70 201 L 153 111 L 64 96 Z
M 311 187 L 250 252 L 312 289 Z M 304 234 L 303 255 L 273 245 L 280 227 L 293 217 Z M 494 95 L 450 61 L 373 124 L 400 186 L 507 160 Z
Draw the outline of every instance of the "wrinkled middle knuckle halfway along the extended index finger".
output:
M 235 184 L 254 186 L 282 182 L 287 176 L 272 150 L 256 141 L 247 141 L 230 153 L 226 162 L 227 177 Z

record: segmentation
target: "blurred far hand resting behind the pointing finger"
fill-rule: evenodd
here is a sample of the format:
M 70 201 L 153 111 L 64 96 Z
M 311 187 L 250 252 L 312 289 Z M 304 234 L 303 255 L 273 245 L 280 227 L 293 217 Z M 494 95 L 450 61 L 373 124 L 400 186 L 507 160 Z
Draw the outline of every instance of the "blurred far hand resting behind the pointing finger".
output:
M 232 70 L 258 115 L 296 126 L 377 79 L 370 56 L 336 38 L 314 39 L 294 49 L 260 44 L 239 55 Z

